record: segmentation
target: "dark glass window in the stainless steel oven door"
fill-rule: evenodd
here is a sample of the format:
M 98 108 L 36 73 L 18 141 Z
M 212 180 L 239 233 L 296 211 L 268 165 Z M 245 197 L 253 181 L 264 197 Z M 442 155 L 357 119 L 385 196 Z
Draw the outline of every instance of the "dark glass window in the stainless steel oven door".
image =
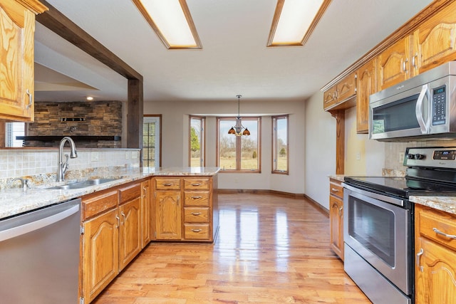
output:
M 395 219 L 393 212 L 351 196 L 348 234 L 394 267 Z

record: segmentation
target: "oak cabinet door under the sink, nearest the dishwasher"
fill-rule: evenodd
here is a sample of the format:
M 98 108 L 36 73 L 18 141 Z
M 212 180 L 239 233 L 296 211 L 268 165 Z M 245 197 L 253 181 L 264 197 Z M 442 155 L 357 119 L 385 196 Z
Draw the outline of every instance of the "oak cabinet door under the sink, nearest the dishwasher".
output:
M 83 298 L 89 303 L 118 275 L 118 209 L 83 223 Z

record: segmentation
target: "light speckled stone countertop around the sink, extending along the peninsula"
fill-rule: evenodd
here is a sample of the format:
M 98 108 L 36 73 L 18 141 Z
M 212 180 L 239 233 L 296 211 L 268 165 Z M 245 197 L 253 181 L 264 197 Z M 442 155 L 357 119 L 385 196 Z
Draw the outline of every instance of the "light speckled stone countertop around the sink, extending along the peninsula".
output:
M 105 174 L 103 178 L 116 178 L 112 182 L 93 185 L 81 189 L 48 189 L 62 183 L 56 182 L 50 184 L 42 184 L 40 186 L 31 187 L 24 190 L 20 187 L 2 189 L 0 191 L 0 219 L 9 216 L 32 211 L 51 204 L 58 204 L 69 199 L 75 199 L 86 194 L 108 189 L 110 187 L 119 186 L 128 182 L 133 182 L 145 177 L 154 176 L 214 176 L 219 172 L 219 167 L 165 167 L 165 168 L 134 168 L 126 169 L 125 171 L 115 170 L 112 174 Z M 98 177 L 102 178 L 102 177 Z M 63 184 L 68 184 L 76 181 L 66 181 Z

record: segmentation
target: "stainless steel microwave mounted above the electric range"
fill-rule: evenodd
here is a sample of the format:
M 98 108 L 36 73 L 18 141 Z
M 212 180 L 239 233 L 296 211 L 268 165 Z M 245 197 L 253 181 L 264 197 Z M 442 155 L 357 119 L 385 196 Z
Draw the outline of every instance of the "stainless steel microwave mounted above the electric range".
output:
M 456 138 L 456 61 L 371 95 L 369 138 Z

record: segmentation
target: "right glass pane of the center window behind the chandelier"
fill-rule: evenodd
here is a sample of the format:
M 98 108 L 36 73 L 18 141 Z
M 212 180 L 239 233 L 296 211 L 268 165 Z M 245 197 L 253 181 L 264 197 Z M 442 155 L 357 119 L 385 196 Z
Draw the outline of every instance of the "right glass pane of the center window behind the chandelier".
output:
M 258 121 L 242 120 L 242 125 L 250 131 L 249 136 L 241 137 L 241 169 L 257 170 L 258 167 Z

